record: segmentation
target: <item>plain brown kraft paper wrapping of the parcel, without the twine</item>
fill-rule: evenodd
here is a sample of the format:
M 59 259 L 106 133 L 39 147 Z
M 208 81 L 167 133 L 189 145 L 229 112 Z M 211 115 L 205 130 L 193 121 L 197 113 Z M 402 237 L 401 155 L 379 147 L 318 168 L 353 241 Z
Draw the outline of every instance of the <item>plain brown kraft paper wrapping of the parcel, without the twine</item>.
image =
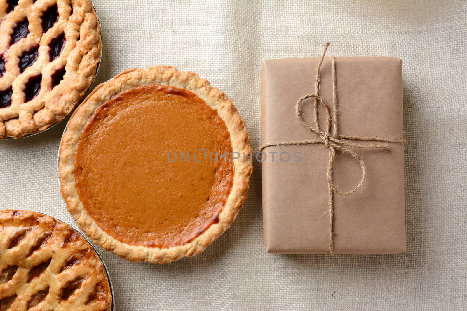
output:
M 275 59 L 261 72 L 262 144 L 318 138 L 298 121 L 297 100 L 315 93 L 320 58 Z M 393 57 L 336 57 L 338 135 L 403 138 L 402 60 Z M 319 94 L 333 103 L 332 63 L 321 66 Z M 303 102 L 312 124 L 313 99 Z M 319 110 L 322 112 L 322 109 Z M 320 113 L 320 124 L 325 124 Z M 353 141 L 361 145 L 375 142 Z M 353 148 L 367 168 L 363 187 L 352 195 L 333 193 L 334 253 L 404 252 L 405 207 L 403 144 L 382 143 L 389 150 Z M 262 162 L 262 200 L 266 251 L 326 254 L 329 247 L 329 153 L 324 144 L 269 146 Z M 272 154 L 275 159 L 272 161 Z M 290 160 L 279 159 L 282 152 Z M 300 152 L 301 161 L 294 157 Z M 287 156 L 284 154 L 283 159 Z M 359 162 L 337 152 L 334 184 L 349 191 L 361 178 Z

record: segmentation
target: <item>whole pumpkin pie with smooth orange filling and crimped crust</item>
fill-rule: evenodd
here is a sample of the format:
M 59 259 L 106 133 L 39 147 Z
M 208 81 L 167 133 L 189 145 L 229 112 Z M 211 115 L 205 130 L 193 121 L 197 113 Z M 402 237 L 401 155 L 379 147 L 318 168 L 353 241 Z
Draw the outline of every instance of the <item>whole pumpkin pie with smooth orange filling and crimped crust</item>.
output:
M 130 69 L 68 122 L 61 193 L 86 235 L 130 261 L 201 253 L 234 221 L 252 172 L 232 101 L 195 73 Z

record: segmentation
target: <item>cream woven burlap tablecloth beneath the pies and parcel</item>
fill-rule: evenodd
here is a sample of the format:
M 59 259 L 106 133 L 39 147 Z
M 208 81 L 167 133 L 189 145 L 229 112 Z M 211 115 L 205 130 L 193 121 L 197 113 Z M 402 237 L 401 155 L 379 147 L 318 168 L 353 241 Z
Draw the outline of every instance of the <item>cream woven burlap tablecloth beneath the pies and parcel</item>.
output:
M 261 166 L 232 227 L 194 258 L 153 265 L 101 251 L 117 310 L 462 310 L 467 308 L 467 2 L 95 0 L 104 37 L 96 83 L 170 64 L 233 99 L 260 145 L 268 58 L 403 59 L 407 253 L 272 255 L 263 249 Z M 0 208 L 74 224 L 59 193 L 65 122 L 0 141 Z

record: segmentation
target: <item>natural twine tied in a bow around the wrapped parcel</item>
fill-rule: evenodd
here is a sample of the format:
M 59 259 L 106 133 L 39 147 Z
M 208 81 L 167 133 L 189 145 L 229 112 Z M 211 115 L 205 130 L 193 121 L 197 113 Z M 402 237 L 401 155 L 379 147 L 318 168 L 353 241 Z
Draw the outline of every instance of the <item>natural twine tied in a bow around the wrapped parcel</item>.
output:
M 329 152 L 329 162 L 327 166 L 326 179 L 328 183 L 328 194 L 329 194 L 329 248 L 328 252 L 331 256 L 334 255 L 334 231 L 333 231 L 333 219 L 334 219 L 334 202 L 333 202 L 333 193 L 340 195 L 351 195 L 354 194 L 359 188 L 362 187 L 363 182 L 367 175 L 367 169 L 363 159 L 353 151 L 353 148 L 368 148 L 368 149 L 389 149 L 389 145 L 357 145 L 349 142 L 348 140 L 360 140 L 360 141 L 373 141 L 373 142 L 387 142 L 387 143 L 405 143 L 405 139 L 385 139 L 385 138 L 376 138 L 376 137 L 361 137 L 361 136 L 347 136 L 347 135 L 337 135 L 337 89 L 336 89 L 336 61 L 334 56 L 331 56 L 332 62 L 332 75 L 333 75 L 333 110 L 331 111 L 328 104 L 325 103 L 323 98 L 319 95 L 319 79 L 320 79 L 320 69 L 321 64 L 324 60 L 326 50 L 329 47 L 329 42 L 326 42 L 323 55 L 318 63 L 318 68 L 316 69 L 316 79 L 315 79 L 315 93 L 308 94 L 304 97 L 301 97 L 296 104 L 296 113 L 298 120 L 303 124 L 311 134 L 317 134 L 318 138 L 311 140 L 295 140 L 295 141 L 283 141 L 283 142 L 272 142 L 264 144 L 261 146 L 261 150 L 269 146 L 285 146 L 285 145 L 311 145 L 311 144 L 323 144 Z M 305 122 L 302 111 L 302 103 L 308 98 L 314 99 L 314 109 L 313 109 L 313 125 Z M 323 106 L 325 108 L 326 114 L 326 124 L 324 130 L 321 128 L 318 120 L 318 107 Z M 347 153 L 352 158 L 356 159 L 361 168 L 361 179 L 358 184 L 350 191 L 342 192 L 340 191 L 333 182 L 333 166 L 334 160 L 336 158 L 336 152 Z

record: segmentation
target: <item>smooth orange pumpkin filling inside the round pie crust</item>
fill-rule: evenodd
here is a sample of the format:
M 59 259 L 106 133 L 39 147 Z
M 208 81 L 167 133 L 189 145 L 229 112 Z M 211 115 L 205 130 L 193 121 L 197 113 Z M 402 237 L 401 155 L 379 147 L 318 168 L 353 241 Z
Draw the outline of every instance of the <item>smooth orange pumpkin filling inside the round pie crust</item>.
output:
M 107 234 L 169 248 L 219 221 L 233 185 L 231 155 L 226 124 L 204 100 L 143 85 L 96 109 L 79 136 L 73 173 L 87 214 Z

